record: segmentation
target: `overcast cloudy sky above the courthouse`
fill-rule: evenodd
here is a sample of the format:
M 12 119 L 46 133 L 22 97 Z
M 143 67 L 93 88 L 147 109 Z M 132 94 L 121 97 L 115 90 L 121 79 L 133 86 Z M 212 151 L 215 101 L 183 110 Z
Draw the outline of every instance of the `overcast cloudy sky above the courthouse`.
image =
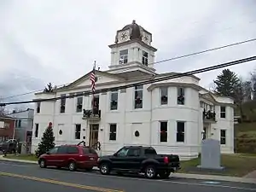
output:
M 0 0 L 0 96 L 67 84 L 110 64 L 116 31 L 132 20 L 153 34 L 156 61 L 256 38 L 255 0 Z M 185 72 L 256 55 L 256 42 L 157 64 Z M 230 67 L 243 77 L 256 61 Z M 203 73 L 207 87 L 220 71 Z M 32 98 L 32 95 L 4 101 Z

